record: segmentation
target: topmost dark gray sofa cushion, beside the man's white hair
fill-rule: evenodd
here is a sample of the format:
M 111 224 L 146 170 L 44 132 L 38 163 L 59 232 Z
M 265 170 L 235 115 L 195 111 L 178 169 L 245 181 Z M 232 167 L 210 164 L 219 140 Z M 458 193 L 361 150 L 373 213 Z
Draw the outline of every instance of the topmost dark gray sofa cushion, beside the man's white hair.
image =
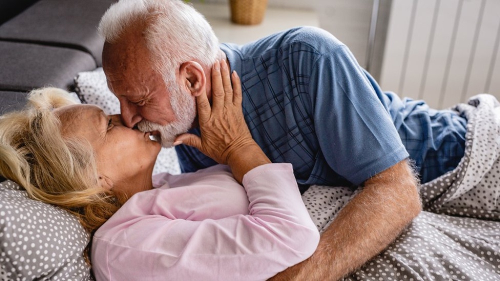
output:
M 104 39 L 96 27 L 113 2 L 40 0 L 1 25 L 0 38 L 78 49 L 100 66 Z

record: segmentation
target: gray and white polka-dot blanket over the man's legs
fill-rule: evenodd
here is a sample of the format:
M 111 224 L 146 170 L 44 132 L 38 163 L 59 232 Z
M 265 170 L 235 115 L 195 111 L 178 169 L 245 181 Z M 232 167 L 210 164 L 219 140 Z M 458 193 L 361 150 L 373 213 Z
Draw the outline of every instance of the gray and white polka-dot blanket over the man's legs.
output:
M 500 280 L 499 105 L 492 96 L 478 95 L 454 108 L 467 118 L 458 167 L 423 184 L 424 211 L 344 280 Z M 312 186 L 302 199 L 322 232 L 357 192 Z

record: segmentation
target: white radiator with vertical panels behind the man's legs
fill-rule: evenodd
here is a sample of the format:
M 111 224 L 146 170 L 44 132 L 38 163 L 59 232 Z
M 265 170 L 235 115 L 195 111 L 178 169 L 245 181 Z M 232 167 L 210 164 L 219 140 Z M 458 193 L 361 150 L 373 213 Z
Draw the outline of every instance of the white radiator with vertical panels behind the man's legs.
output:
M 500 99 L 500 0 L 392 0 L 380 85 L 446 108 Z

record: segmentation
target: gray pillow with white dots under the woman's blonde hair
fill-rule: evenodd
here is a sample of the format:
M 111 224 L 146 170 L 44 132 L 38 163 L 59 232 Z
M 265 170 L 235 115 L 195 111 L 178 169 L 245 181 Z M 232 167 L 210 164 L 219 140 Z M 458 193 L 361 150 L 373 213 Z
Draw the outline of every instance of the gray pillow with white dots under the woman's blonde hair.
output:
M 88 242 L 73 215 L 0 183 L 0 280 L 90 280 Z

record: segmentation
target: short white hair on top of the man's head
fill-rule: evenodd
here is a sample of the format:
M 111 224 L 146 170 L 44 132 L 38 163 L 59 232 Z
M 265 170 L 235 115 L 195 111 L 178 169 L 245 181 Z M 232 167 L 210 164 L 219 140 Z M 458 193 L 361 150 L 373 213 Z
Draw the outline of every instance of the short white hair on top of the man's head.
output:
M 135 24 L 144 24 L 151 63 L 168 81 L 188 60 L 211 66 L 218 39 L 204 16 L 182 0 L 119 0 L 102 16 L 98 31 L 108 43 L 117 42 Z

